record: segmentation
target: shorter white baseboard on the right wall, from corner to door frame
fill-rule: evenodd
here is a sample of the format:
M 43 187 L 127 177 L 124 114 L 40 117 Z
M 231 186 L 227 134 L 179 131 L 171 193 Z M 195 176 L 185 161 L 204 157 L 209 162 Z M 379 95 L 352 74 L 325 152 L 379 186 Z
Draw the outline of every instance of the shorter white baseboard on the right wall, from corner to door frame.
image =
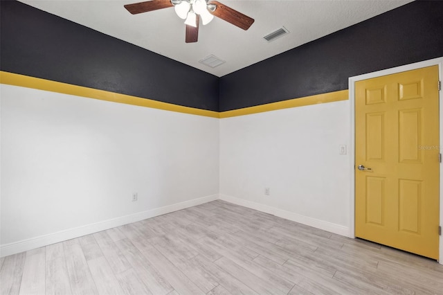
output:
M 300 214 L 293 213 L 293 212 L 289 212 L 289 211 L 284 211 L 279 208 L 247 201 L 245 199 L 239 199 L 237 197 L 232 197 L 232 196 L 228 196 L 228 195 L 221 195 L 220 194 L 220 199 L 223 201 L 226 201 L 226 202 L 237 204 L 239 206 L 244 206 L 244 207 L 251 208 L 251 209 L 254 209 L 257 211 L 262 211 L 264 213 L 269 213 L 269 214 L 275 215 L 277 217 L 282 217 L 284 219 L 291 220 L 293 222 L 298 222 L 301 224 L 312 226 L 312 227 L 315 227 L 316 229 L 323 229 L 323 231 L 329 231 L 330 233 L 336 233 L 337 235 L 344 235 L 346 237 L 349 237 L 349 235 L 350 235 L 350 229 L 346 226 L 333 224 L 331 222 L 325 222 L 323 220 L 318 220 L 316 218 L 307 217 L 307 216 L 300 215 Z

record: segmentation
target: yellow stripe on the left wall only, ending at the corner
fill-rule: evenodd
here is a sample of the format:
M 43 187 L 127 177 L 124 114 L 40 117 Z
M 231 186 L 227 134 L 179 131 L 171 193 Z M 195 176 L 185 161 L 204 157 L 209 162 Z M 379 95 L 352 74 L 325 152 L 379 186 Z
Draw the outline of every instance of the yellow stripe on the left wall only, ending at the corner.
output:
M 159 102 L 147 98 L 138 98 L 136 96 L 127 96 L 125 94 L 114 93 L 105 90 L 93 89 L 88 87 L 55 82 L 41 78 L 29 77 L 15 73 L 0 71 L 0 82 L 20 87 L 28 87 L 45 91 L 52 91 L 73 96 L 82 96 L 85 98 L 95 98 L 99 100 L 107 100 L 111 102 L 120 102 L 127 105 L 138 105 L 140 107 L 151 107 L 153 109 L 163 109 L 166 111 L 177 111 L 179 113 L 193 114 L 199 116 L 207 116 L 219 118 L 218 111 L 208 111 L 206 109 L 196 109 L 194 107 L 183 107 L 168 102 Z

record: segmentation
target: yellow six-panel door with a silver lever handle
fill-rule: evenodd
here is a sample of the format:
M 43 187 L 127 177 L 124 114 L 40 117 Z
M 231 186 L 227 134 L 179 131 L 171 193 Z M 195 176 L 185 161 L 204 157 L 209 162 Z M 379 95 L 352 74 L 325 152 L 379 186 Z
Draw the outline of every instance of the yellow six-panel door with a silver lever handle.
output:
M 430 66 L 355 84 L 355 235 L 434 259 L 437 82 L 438 67 Z

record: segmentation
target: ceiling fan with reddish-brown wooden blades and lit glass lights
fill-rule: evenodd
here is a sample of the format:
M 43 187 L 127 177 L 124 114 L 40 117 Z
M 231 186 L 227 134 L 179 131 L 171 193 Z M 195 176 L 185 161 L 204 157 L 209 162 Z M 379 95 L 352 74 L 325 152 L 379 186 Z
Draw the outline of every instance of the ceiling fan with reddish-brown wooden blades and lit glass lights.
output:
M 200 19 L 201 23 L 206 25 L 216 16 L 243 30 L 247 30 L 254 22 L 251 17 L 233 10 L 219 1 L 210 0 L 151 0 L 127 4 L 125 8 L 132 15 L 136 15 L 172 6 L 174 6 L 177 15 L 181 19 L 185 19 L 186 43 L 197 42 L 199 39 Z

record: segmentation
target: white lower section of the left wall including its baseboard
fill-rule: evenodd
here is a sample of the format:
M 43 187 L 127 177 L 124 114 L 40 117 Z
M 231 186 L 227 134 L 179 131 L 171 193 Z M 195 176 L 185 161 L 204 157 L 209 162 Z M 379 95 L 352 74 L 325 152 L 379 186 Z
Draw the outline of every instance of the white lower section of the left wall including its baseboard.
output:
M 1 256 L 217 199 L 217 118 L 0 87 Z

